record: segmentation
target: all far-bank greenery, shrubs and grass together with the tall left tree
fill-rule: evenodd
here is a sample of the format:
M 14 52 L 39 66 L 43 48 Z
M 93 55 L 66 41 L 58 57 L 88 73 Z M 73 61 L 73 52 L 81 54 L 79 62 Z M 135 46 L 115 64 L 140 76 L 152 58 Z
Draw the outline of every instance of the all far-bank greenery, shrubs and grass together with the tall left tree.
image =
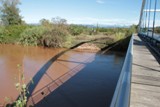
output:
M 67 24 L 67 20 L 55 17 L 42 19 L 39 24 L 26 24 L 19 15 L 19 0 L 0 0 L 0 43 L 25 46 L 70 47 L 95 38 L 110 37 L 115 42 L 136 31 L 129 28 L 102 28 Z M 108 42 L 106 42 L 108 43 Z

